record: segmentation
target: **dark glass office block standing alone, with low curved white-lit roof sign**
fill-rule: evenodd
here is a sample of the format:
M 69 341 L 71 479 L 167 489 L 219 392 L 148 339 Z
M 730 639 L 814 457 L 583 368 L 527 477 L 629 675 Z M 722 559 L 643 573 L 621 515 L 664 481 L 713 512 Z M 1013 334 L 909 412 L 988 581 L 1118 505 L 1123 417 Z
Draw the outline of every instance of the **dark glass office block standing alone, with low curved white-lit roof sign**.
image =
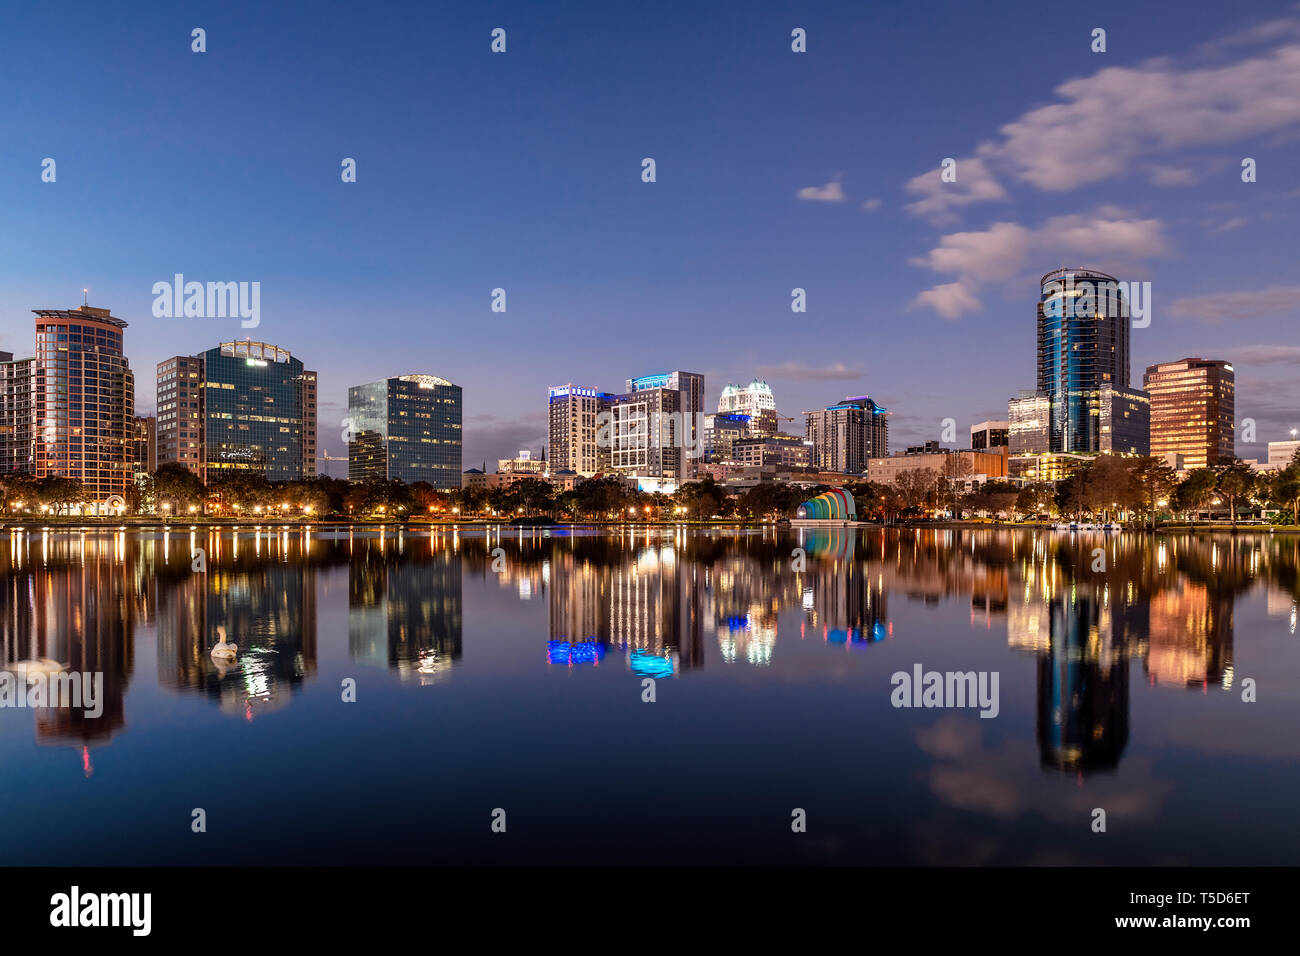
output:
M 347 477 L 460 488 L 462 390 L 433 375 L 381 378 L 347 390 Z

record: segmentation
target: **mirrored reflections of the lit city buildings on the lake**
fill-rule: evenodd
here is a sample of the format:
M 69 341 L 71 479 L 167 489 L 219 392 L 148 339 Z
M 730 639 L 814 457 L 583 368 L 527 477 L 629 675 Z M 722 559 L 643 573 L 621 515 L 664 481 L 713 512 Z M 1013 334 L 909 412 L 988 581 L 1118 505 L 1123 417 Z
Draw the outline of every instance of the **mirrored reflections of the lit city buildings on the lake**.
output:
M 1005 628 L 1036 658 L 1043 767 L 1112 771 L 1130 745 L 1131 675 L 1153 688 L 1234 688 L 1234 617 L 1254 589 L 1295 633 L 1300 540 L 1006 531 L 688 532 L 640 528 L 380 533 L 225 528 L 5 532 L 0 665 L 103 671 L 105 710 L 35 715 L 40 743 L 81 748 L 126 724 L 138 628 L 156 627 L 157 684 L 246 719 L 289 706 L 317 672 L 317 602 L 346 576 L 351 661 L 416 684 L 463 666 L 476 601 L 536 607 L 549 667 L 690 679 L 772 669 L 790 643 L 870 654 L 914 641 L 916 611 Z M 194 570 L 196 550 L 204 568 Z M 907 607 L 906 626 L 896 619 Z M 545 620 L 542 619 L 545 614 Z M 936 620 L 940 618 L 936 617 Z M 217 628 L 239 644 L 213 659 Z M 343 640 L 338 635 L 338 640 Z M 824 658 L 833 666 L 833 657 Z M 602 666 L 604 665 L 604 666 Z M 828 671 L 829 672 L 829 671 Z M 1022 688 L 1028 692 L 1030 688 Z M 1031 737 L 1028 727 L 1022 728 Z M 88 752 L 87 752 L 88 760 Z

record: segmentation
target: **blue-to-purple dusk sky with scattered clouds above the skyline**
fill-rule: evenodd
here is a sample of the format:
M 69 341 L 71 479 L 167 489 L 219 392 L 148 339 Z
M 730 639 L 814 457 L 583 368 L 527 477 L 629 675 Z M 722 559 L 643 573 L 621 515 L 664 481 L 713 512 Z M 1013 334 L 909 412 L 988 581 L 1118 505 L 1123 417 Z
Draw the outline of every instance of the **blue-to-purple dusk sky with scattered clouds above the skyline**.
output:
M 1227 358 L 1238 454 L 1300 427 L 1292 4 L 51 3 L 0 14 L 0 349 L 87 286 L 142 412 L 252 336 L 320 372 L 330 454 L 412 371 L 464 388 L 467 467 L 543 441 L 547 385 L 670 368 L 871 394 L 901 447 L 1005 418 L 1037 277 L 1086 264 L 1152 282 L 1135 384 Z M 261 325 L 155 319 L 178 272 Z

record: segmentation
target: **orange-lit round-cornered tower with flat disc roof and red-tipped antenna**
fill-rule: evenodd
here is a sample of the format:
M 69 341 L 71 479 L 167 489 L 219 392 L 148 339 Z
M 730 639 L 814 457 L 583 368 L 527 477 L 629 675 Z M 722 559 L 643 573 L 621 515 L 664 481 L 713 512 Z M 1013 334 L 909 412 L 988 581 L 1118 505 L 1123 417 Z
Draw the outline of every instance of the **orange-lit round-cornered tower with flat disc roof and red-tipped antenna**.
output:
M 91 306 L 32 312 L 32 473 L 77 479 L 96 514 L 125 507 L 135 460 L 126 323 Z

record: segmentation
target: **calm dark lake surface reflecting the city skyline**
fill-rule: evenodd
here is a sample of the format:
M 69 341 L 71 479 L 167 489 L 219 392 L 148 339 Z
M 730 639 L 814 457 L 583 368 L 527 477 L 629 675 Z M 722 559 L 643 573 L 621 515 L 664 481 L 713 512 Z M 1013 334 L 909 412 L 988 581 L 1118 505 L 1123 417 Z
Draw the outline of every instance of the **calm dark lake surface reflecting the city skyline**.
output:
M 0 535 L 5 865 L 1300 864 L 1294 536 Z

